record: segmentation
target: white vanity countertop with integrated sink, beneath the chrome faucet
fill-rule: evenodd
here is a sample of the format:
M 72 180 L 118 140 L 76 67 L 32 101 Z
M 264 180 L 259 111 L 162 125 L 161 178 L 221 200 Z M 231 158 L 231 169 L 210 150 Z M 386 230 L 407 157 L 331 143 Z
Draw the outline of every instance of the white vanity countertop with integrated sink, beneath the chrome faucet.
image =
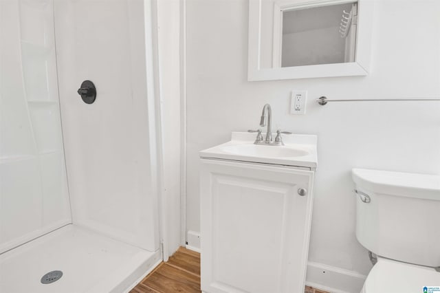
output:
M 276 134 L 273 134 L 275 137 Z M 283 135 L 284 146 L 254 144 L 255 133 L 232 132 L 230 142 L 200 151 L 203 159 L 221 159 L 316 170 L 316 135 Z

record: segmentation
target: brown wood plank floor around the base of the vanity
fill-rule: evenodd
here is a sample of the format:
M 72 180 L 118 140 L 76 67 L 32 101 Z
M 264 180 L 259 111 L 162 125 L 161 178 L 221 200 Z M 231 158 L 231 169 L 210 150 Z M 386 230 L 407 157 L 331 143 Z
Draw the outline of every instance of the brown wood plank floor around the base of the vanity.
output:
M 179 248 L 166 262 L 160 263 L 130 293 L 195 293 L 200 290 L 200 254 Z M 328 293 L 305 287 L 305 293 Z

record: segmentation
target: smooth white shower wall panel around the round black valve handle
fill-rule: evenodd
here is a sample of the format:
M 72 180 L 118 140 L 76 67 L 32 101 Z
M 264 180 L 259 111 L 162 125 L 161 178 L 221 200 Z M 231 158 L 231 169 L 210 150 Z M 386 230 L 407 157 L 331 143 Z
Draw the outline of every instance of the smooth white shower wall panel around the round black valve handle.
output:
M 55 4 L 73 222 L 155 251 L 159 248 L 156 109 L 147 85 L 153 65 L 146 58 L 149 19 L 144 22 L 144 1 Z M 98 92 L 91 105 L 76 93 L 87 79 Z

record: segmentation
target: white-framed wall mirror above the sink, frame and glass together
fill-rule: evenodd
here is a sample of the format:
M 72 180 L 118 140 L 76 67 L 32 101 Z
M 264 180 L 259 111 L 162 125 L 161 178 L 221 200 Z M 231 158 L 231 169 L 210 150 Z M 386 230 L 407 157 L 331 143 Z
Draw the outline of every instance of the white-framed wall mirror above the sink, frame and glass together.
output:
M 369 73 L 372 0 L 250 0 L 248 80 Z

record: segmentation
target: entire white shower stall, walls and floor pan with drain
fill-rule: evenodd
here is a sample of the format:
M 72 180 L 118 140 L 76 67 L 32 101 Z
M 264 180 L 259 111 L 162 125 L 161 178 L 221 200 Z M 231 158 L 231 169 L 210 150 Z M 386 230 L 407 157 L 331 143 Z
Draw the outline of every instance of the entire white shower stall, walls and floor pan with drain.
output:
M 0 292 L 124 292 L 162 260 L 151 14 L 0 1 Z

